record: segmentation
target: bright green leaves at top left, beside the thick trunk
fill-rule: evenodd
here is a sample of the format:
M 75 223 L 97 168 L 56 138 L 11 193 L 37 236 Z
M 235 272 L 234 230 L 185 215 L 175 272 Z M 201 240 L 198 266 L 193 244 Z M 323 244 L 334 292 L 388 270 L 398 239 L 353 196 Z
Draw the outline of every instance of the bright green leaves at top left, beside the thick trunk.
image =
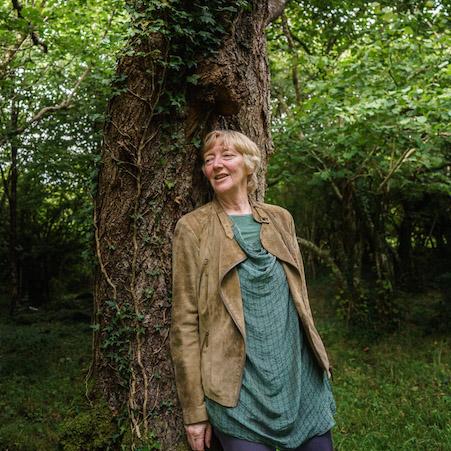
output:
M 69 131 L 73 125 L 78 125 L 77 129 L 81 131 L 82 124 L 89 124 L 88 119 L 98 120 L 97 115 L 103 113 L 99 105 L 105 105 L 104 96 L 111 82 L 115 53 L 123 42 L 121 36 L 126 20 L 122 12 L 123 2 L 35 2 L 33 7 L 22 9 L 24 18 L 17 17 L 11 2 L 2 3 L 0 8 L 0 41 L 7 52 L 13 52 L 12 59 L 5 58 L 0 65 L 4 70 L 0 77 L 3 117 L 8 117 L 14 99 L 20 104 L 18 126 L 23 126 L 41 108 L 58 104 L 73 91 L 70 106 L 77 105 L 76 112 L 68 112 L 66 116 L 67 109 L 64 109 L 62 118 L 58 117 L 59 114 L 44 118 L 45 122 L 48 121 L 49 138 L 61 134 L 75 138 L 76 135 Z M 33 45 L 27 33 L 30 23 L 40 40 L 45 42 L 47 52 L 42 46 Z M 90 74 L 81 78 L 86 69 Z M 78 80 L 81 85 L 77 88 Z M 58 127 L 61 122 L 66 128 L 57 133 L 53 127 Z M 14 131 L 9 129 L 9 125 L 8 120 L 2 121 L 1 136 Z M 42 144 L 42 138 L 47 138 L 42 129 L 32 129 L 32 132 L 33 138 L 29 142 Z

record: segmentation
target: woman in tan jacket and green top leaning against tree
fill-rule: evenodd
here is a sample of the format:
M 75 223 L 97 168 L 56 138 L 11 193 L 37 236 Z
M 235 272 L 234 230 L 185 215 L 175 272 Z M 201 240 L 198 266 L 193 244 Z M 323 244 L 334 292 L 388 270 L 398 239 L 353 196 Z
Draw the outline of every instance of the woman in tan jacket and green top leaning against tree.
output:
M 293 219 L 254 202 L 260 151 L 213 131 L 202 171 L 212 202 L 173 242 L 171 353 L 188 442 L 225 451 L 330 451 L 335 404 Z

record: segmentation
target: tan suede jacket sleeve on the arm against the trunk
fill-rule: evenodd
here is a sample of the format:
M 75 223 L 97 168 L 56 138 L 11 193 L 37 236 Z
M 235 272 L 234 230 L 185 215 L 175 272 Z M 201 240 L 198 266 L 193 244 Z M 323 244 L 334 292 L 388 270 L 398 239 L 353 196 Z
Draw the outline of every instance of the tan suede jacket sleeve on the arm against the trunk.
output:
M 170 347 L 185 424 L 208 419 L 200 371 L 198 262 L 198 238 L 182 218 L 176 225 L 172 247 Z

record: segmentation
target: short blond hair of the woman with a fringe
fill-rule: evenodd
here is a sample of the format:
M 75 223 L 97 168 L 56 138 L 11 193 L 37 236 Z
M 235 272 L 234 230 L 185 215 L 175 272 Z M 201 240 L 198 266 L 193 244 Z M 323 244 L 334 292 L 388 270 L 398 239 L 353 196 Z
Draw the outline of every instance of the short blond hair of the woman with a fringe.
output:
M 233 146 L 243 155 L 244 165 L 249 173 L 247 191 L 253 193 L 257 189 L 257 171 L 261 164 L 261 152 L 257 144 L 243 133 L 234 130 L 213 130 L 204 138 L 202 157 L 216 141 L 222 141 L 224 148 Z

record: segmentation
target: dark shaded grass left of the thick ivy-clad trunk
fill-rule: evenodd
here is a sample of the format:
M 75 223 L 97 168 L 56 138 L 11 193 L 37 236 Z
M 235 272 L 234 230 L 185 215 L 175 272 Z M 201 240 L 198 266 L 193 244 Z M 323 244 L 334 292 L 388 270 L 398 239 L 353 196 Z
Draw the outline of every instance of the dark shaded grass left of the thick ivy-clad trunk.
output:
M 1 322 L 0 449 L 58 449 L 64 420 L 86 404 L 91 329 L 76 318 L 65 309 Z

